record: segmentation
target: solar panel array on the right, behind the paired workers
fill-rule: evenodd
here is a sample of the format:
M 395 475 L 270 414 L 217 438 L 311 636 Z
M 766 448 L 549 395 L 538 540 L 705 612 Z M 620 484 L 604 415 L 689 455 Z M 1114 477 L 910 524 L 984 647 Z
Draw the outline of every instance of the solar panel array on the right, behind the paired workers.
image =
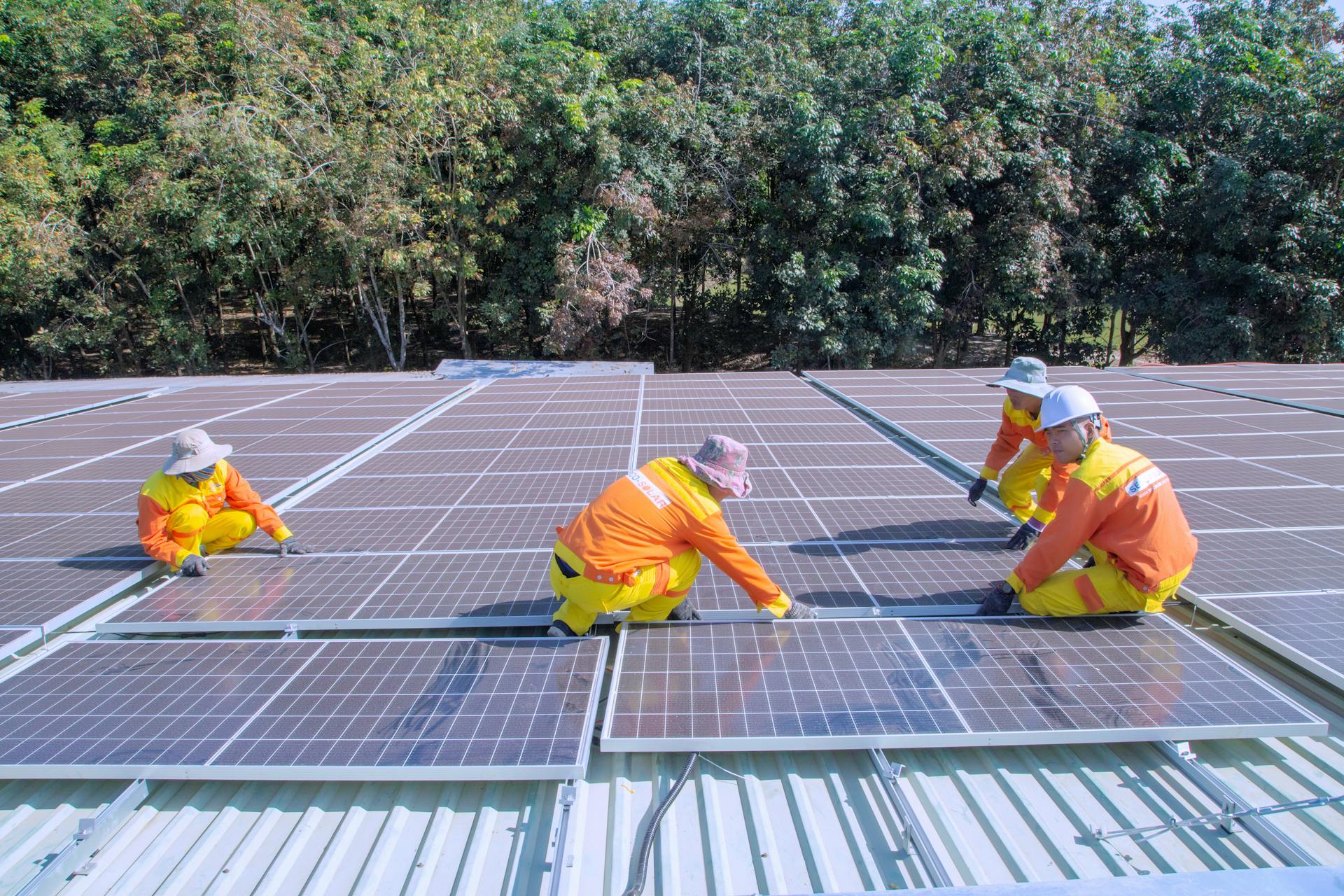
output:
M 810 373 L 974 476 L 997 427 L 1001 369 Z M 1327 677 L 1344 674 L 1344 419 L 1089 368 L 1051 371 L 1097 398 L 1117 442 L 1171 476 L 1199 537 L 1181 594 Z M 931 422 L 935 420 L 935 422 Z M 1254 622 L 1310 592 L 1321 627 Z M 1241 595 L 1241 596 L 1235 596 Z M 1304 598 L 1308 599 L 1308 598 Z M 1328 611 L 1324 610 L 1328 607 Z M 1329 634 L 1327 634 L 1329 633 Z M 1332 646 L 1333 645 L 1333 646 Z

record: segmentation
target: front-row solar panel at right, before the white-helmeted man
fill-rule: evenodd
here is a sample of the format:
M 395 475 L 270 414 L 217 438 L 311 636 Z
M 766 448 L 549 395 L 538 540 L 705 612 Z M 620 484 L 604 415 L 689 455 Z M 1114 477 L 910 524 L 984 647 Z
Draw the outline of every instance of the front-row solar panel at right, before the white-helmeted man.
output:
M 981 747 L 1322 733 L 1164 617 L 629 626 L 603 751 Z

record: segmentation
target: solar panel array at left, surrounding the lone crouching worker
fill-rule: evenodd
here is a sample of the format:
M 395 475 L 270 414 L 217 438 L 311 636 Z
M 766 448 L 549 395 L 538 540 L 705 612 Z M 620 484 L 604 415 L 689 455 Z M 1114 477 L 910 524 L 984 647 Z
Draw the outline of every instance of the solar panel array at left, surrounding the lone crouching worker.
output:
M 22 477 L 0 485 L 0 625 L 54 627 L 152 572 L 136 498 L 177 430 L 206 426 L 231 443 L 238 469 L 274 498 L 462 386 L 195 387 L 0 433 L 0 467 Z

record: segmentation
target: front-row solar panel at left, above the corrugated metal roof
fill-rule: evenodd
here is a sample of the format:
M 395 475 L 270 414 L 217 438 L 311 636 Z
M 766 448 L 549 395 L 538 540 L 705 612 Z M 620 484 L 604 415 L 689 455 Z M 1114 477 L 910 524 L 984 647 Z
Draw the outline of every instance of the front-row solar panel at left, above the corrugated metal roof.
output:
M 0 776 L 583 775 L 606 641 L 78 642 L 0 681 Z

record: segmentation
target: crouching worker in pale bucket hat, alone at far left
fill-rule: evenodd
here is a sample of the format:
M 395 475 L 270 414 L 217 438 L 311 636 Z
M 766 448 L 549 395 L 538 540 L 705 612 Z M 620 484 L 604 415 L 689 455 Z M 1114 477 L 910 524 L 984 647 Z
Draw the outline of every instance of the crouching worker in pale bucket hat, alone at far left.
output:
M 207 555 L 234 547 L 258 527 L 280 543 L 281 555 L 308 553 L 276 509 L 224 461 L 231 451 L 204 430 L 173 437 L 171 457 L 140 489 L 137 525 L 145 553 L 183 575 L 204 575 Z

